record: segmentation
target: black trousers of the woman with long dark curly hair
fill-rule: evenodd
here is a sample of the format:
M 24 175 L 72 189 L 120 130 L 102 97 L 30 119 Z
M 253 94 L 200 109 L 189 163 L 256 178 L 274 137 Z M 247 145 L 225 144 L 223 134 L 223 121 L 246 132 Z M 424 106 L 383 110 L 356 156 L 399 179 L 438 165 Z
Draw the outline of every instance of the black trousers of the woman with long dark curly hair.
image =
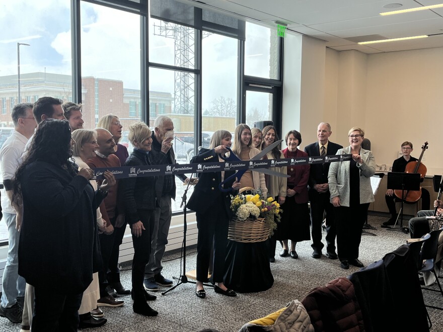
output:
M 77 332 L 82 297 L 83 293 L 59 294 L 49 287 L 35 286 L 32 331 Z

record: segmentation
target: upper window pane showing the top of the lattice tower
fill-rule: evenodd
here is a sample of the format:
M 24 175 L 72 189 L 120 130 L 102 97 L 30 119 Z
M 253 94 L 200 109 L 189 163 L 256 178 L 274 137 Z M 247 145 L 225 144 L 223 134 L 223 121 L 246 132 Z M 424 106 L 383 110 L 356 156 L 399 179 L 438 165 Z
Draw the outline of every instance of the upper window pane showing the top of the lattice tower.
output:
M 194 68 L 194 29 L 151 18 L 149 24 L 150 62 Z

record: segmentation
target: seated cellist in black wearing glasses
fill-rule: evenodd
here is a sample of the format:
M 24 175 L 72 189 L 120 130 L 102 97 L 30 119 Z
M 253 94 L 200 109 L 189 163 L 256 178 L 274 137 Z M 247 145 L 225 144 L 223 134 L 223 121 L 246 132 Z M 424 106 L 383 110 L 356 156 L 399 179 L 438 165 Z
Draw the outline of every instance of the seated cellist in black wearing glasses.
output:
M 403 155 L 394 160 L 394 163 L 392 164 L 392 172 L 404 172 L 406 169 L 406 164 L 411 161 L 417 161 L 417 158 L 414 158 L 411 156 L 411 152 L 413 151 L 412 143 L 411 142 L 403 142 L 401 145 L 401 150 Z M 395 220 L 397 219 L 397 209 L 395 208 L 395 199 L 397 196 L 394 195 L 394 190 L 388 189 L 386 192 L 385 200 L 386 205 L 388 206 L 389 213 L 391 213 L 391 218 L 389 218 L 388 221 L 384 222 L 381 227 L 383 228 L 389 228 L 389 226 L 392 226 L 395 224 Z M 421 207 L 422 210 L 429 210 L 430 205 L 430 197 L 429 192 L 421 188 Z

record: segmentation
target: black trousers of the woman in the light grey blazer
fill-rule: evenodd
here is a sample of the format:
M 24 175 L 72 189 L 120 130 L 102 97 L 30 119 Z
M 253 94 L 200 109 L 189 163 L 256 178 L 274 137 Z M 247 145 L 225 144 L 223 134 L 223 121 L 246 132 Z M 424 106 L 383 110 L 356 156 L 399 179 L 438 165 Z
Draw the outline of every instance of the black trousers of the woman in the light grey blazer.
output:
M 340 262 L 358 258 L 361 231 L 366 221 L 368 207 L 369 203 L 335 208 L 337 255 Z

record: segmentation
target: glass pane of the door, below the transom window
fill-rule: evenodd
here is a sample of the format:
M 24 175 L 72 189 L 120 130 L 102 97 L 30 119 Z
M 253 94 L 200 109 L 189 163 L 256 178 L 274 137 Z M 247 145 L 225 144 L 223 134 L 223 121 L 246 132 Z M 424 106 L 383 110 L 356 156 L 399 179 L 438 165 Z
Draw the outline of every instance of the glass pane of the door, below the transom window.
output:
M 254 127 L 256 121 L 272 120 L 272 94 L 246 91 L 246 124 Z

